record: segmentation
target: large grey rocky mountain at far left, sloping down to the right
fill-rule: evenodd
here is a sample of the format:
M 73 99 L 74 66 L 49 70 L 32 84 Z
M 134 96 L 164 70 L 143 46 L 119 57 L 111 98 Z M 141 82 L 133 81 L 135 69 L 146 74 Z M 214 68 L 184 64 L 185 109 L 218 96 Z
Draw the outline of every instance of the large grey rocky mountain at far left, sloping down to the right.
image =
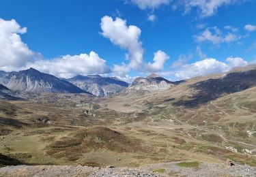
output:
M 86 93 L 66 80 L 30 68 L 23 71 L 0 72 L 0 84 L 12 91 L 31 93 Z

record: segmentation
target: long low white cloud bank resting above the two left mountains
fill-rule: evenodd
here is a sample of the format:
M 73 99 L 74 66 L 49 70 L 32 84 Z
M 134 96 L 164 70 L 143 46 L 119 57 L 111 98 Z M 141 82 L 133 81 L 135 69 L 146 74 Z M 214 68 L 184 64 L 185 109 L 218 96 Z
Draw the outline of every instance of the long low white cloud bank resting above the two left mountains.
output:
M 70 78 L 77 74 L 106 74 L 110 72 L 106 61 L 100 59 L 96 52 L 74 56 L 68 54 L 57 59 L 38 60 L 34 63 L 29 63 L 28 67 L 33 67 L 61 78 Z

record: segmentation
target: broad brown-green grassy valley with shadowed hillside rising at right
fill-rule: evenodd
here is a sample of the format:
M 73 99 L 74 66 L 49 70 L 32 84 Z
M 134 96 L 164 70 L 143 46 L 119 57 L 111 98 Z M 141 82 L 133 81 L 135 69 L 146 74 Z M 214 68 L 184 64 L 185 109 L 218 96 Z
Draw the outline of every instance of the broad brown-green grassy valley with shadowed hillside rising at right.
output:
M 255 167 L 256 80 L 244 72 L 255 70 L 236 71 L 232 88 L 241 89 L 234 91 L 226 90 L 223 75 L 212 75 L 109 97 L 18 92 L 20 99 L 0 101 L 0 164 L 141 167 L 231 159 Z M 234 74 L 227 76 L 230 82 Z

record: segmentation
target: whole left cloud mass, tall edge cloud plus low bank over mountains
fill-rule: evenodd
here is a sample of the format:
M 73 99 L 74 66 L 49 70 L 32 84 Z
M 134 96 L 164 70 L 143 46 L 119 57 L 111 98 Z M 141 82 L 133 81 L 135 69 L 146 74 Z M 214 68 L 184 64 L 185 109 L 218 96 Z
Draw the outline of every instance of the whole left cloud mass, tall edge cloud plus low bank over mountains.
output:
M 18 71 L 34 67 L 65 78 L 76 74 L 104 74 L 110 71 L 106 61 L 100 59 L 96 52 L 43 59 L 42 55 L 30 50 L 22 41 L 20 34 L 26 32 L 27 29 L 20 27 L 15 20 L 0 19 L 0 70 Z

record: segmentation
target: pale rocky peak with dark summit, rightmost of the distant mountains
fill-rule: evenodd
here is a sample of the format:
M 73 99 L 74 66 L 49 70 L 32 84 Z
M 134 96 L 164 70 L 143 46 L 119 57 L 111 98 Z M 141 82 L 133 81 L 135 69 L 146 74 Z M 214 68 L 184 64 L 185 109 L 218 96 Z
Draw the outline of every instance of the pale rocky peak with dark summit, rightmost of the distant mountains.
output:
M 156 74 L 151 74 L 147 78 L 137 78 L 126 89 L 126 93 L 132 91 L 165 91 L 175 85 L 165 78 L 161 78 Z

